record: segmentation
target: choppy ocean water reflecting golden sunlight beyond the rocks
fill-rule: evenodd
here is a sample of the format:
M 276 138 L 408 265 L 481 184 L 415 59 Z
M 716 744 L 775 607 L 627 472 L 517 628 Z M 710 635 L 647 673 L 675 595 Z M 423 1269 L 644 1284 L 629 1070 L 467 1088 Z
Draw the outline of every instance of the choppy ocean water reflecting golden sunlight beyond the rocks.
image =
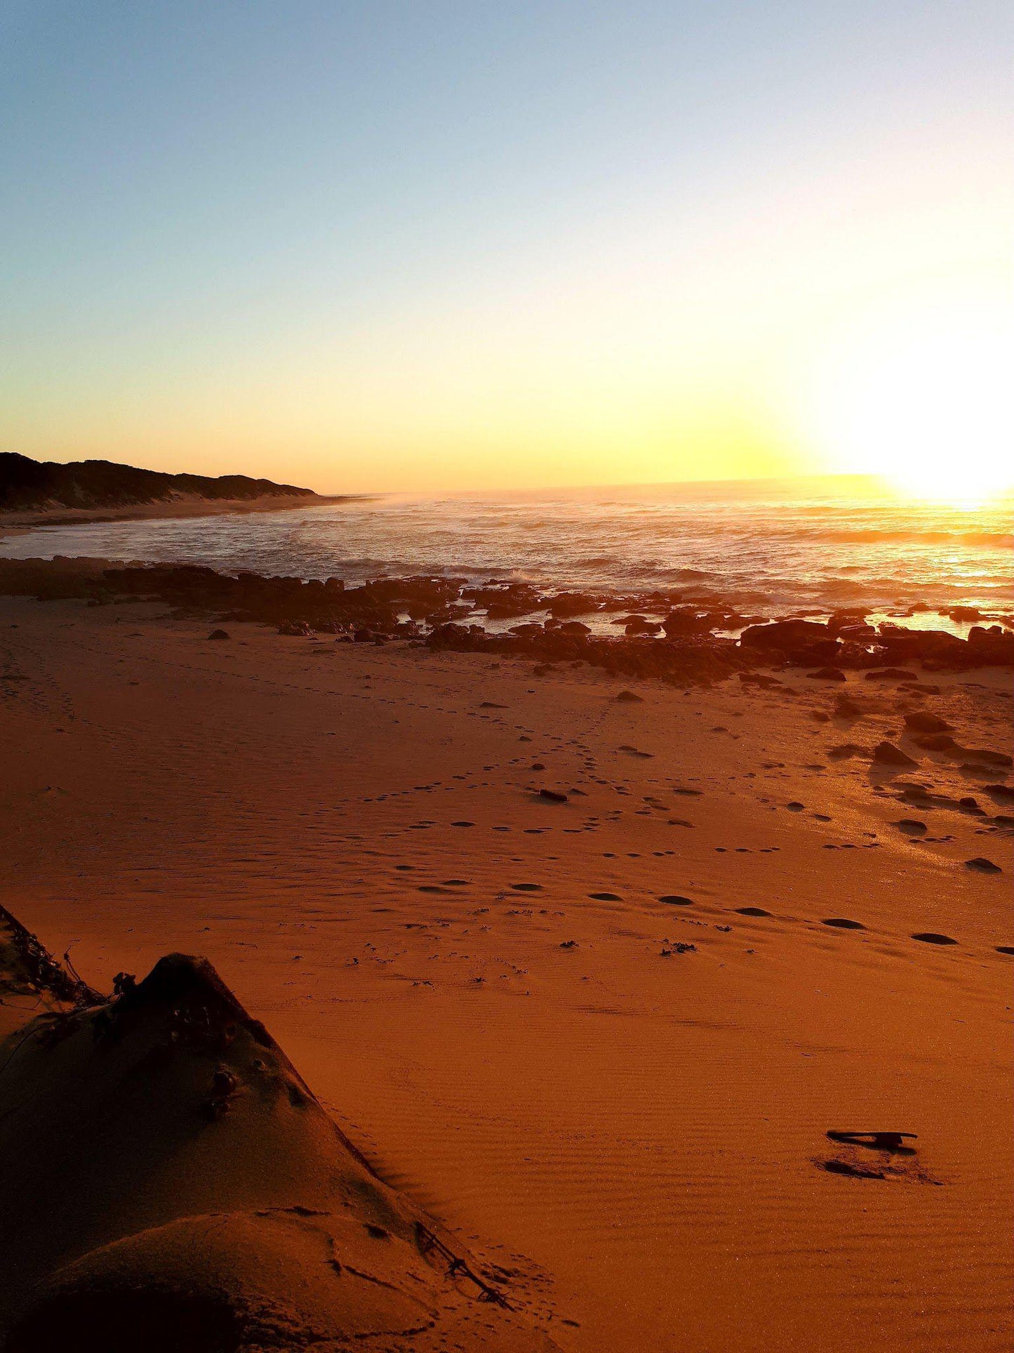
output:
M 350 583 L 443 574 L 664 589 L 769 614 L 1014 607 L 1010 499 L 969 509 L 850 498 L 826 482 L 384 495 L 295 511 L 51 525 L 0 538 L 0 555 L 188 561 Z

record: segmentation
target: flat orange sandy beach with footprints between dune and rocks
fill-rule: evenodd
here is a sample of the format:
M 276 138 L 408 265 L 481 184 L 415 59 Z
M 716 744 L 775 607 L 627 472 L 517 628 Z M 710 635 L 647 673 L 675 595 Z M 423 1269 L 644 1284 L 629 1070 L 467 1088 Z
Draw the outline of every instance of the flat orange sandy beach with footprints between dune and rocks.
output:
M 561 1348 L 1009 1346 L 1006 771 L 861 672 L 208 629 L 0 599 L 0 901 L 50 950 L 210 958 Z M 933 681 L 1009 751 L 1005 670 Z M 840 750 L 882 739 L 918 769 Z

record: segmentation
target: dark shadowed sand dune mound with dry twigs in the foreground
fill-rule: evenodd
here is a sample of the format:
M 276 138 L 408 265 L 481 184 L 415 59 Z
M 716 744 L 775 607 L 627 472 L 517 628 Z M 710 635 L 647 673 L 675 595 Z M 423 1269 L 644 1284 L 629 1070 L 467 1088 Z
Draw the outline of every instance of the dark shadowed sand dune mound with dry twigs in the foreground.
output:
M 0 1050 L 12 1353 L 552 1348 L 380 1183 L 210 963 L 169 955 L 99 1005 L 54 965 L 8 966 L 5 993 L 32 986 L 50 1008 Z

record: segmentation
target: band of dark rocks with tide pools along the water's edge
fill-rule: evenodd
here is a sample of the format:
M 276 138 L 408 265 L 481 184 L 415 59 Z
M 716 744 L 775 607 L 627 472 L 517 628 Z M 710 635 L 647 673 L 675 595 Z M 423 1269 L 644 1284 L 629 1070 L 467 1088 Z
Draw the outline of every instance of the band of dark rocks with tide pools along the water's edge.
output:
M 111 567 L 112 566 L 112 567 Z M 544 591 L 531 583 L 475 586 L 462 578 L 381 576 L 360 586 L 341 578 L 304 580 L 193 564 L 116 563 L 54 556 L 0 559 L 0 594 L 38 599 L 77 597 L 89 605 L 153 599 L 204 613 L 218 621 L 256 621 L 289 637 L 329 636 L 334 643 L 408 641 L 454 652 L 531 658 L 553 666 L 588 663 L 612 674 L 658 678 L 669 685 L 710 685 L 756 668 L 808 667 L 808 676 L 845 682 L 899 674 L 904 689 L 934 694 L 903 667 L 922 672 L 1014 667 L 1014 620 L 976 607 L 948 617 L 965 635 L 919 628 L 927 606 L 904 614 L 915 621 L 871 622 L 861 606 L 825 618 L 744 614 L 719 595 L 650 591 L 626 595 Z M 771 679 L 771 678 L 765 678 Z

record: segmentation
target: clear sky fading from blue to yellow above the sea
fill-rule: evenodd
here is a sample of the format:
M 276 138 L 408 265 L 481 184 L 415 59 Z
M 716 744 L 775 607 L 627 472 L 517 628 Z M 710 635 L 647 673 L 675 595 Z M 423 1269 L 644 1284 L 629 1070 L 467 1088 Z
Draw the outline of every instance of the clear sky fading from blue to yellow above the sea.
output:
M 1006 0 L 5 0 L 0 449 L 996 488 L 1011 55 Z

